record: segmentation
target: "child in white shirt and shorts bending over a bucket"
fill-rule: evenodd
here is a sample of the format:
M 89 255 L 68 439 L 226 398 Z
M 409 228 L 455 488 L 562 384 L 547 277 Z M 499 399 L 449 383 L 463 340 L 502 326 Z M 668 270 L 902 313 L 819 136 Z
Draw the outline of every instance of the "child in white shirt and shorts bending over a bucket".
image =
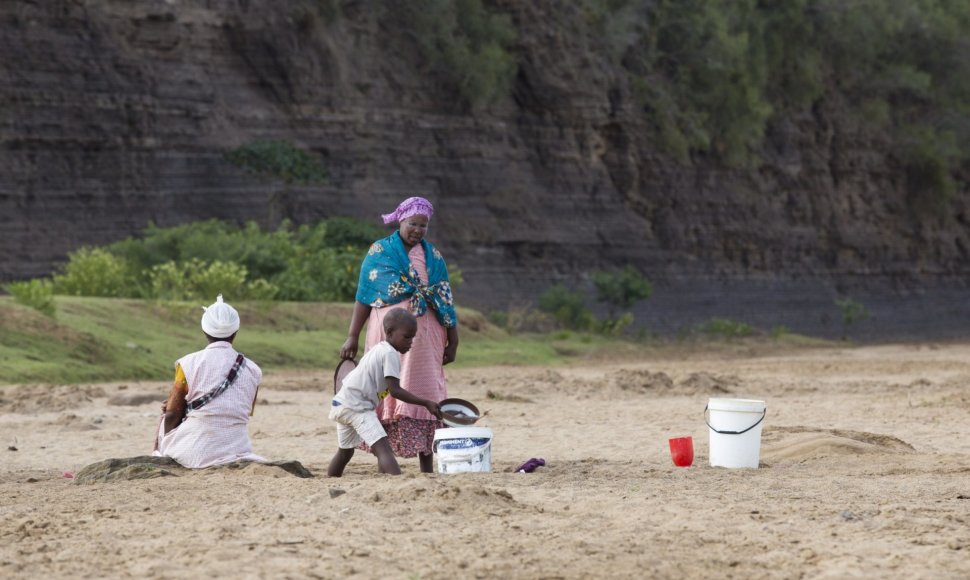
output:
M 354 448 L 361 440 L 370 446 L 377 456 L 377 468 L 381 473 L 400 475 L 401 467 L 394 458 L 391 444 L 380 419 L 377 405 L 391 395 L 399 401 L 421 405 L 435 417 L 441 418 L 438 403 L 422 399 L 401 388 L 401 355 L 411 349 L 418 321 L 403 308 L 394 309 L 384 317 L 384 334 L 381 341 L 367 351 L 360 364 L 344 377 L 340 390 L 333 397 L 330 420 L 337 423 L 336 455 L 330 460 L 327 474 L 343 475 L 344 468 L 354 456 Z

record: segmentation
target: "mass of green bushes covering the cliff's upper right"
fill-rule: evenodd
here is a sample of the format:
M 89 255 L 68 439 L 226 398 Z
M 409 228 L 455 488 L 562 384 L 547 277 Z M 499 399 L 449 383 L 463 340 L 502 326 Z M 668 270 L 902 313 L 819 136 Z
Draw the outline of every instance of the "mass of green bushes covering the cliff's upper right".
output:
M 583 0 L 595 30 L 622 30 L 621 63 L 654 141 L 689 161 L 760 161 L 783 116 L 837 108 L 842 132 L 888 139 L 911 194 L 956 193 L 970 161 L 970 3 L 950 0 Z M 616 22 L 613 22 L 616 21 Z M 632 32 L 631 32 L 632 30 Z

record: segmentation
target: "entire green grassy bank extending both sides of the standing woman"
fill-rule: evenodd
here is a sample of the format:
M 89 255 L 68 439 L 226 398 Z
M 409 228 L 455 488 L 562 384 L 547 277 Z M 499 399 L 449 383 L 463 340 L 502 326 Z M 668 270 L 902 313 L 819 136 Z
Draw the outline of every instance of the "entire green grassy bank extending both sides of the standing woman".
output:
M 194 303 L 58 296 L 54 318 L 0 297 L 0 383 L 168 380 L 174 361 L 205 346 Z M 236 303 L 243 320 L 236 347 L 265 371 L 320 369 L 337 362 L 350 304 Z M 510 335 L 461 309 L 455 368 L 559 365 L 616 352 L 617 339 L 576 333 Z M 361 337 L 363 346 L 363 337 Z M 642 347 L 641 347 L 642 348 Z

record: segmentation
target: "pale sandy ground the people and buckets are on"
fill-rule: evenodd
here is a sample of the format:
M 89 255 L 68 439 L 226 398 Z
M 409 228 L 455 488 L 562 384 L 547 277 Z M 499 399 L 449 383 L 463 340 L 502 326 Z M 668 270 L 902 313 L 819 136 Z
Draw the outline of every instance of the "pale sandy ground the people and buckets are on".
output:
M 150 450 L 167 385 L 4 387 L 0 577 L 970 577 L 970 345 L 452 371 L 489 411 L 478 474 L 379 476 L 358 453 L 327 478 L 330 377 L 266 377 L 250 425 L 313 479 L 74 485 L 65 471 Z M 708 465 L 710 397 L 767 401 L 760 469 Z M 684 435 L 686 469 L 667 449 Z M 510 473 L 533 456 L 548 465 Z

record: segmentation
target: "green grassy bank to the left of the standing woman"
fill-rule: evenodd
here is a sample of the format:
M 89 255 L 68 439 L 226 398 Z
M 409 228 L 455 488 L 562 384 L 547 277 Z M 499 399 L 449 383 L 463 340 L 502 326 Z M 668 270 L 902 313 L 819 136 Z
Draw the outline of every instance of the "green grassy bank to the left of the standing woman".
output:
M 51 319 L 0 298 L 0 382 L 163 380 L 177 358 L 205 346 L 195 304 L 58 296 L 56 305 Z M 268 369 L 322 366 L 343 341 L 350 312 L 329 304 L 237 306 L 245 324 L 236 346 Z

